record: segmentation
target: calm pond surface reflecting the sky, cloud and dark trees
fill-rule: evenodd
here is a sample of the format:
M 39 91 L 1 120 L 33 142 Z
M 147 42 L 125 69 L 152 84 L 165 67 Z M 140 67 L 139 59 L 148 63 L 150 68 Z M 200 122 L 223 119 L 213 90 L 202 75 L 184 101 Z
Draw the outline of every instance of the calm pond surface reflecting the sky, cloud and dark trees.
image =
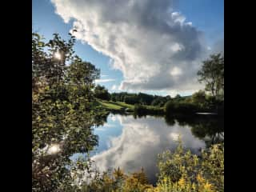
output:
M 131 173 L 143 167 L 152 184 L 158 173 L 158 154 L 174 150 L 179 136 L 183 145 L 195 154 L 212 143 L 224 141 L 223 118 L 208 115 L 134 118 L 109 114 L 106 123 L 95 128 L 94 134 L 99 141 L 90 155 L 98 170 L 120 167 Z

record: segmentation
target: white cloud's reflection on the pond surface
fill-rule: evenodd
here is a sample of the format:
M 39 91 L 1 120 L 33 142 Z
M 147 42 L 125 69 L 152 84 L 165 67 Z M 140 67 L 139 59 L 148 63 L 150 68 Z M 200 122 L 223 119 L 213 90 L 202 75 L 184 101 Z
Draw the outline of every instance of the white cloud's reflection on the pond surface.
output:
M 107 140 L 108 147 L 92 157 L 99 170 L 109 170 L 119 167 L 126 172 L 144 168 L 150 182 L 154 182 L 158 171 L 156 166 L 158 154 L 163 150 L 174 150 L 178 136 L 192 151 L 205 147 L 205 142 L 194 138 L 190 127 L 167 126 L 163 118 L 138 118 L 116 115 L 111 117 L 122 126 L 122 134 Z

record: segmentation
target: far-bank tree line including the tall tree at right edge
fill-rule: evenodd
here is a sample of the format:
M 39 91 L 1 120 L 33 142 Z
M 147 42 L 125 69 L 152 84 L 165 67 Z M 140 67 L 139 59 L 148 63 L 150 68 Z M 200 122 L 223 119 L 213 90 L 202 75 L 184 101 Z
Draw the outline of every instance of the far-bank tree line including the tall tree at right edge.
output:
M 199 90 L 194 94 L 182 97 L 177 94 L 174 98 L 170 95 L 159 96 L 145 93 L 112 93 L 104 86 L 96 86 L 94 94 L 113 102 L 126 102 L 136 105 L 134 111 L 138 114 L 161 114 L 160 108 L 164 108 L 166 114 L 192 114 L 195 112 L 224 113 L 224 56 L 221 54 L 210 55 L 210 58 L 202 62 L 202 68 L 198 71 L 198 81 L 205 83 L 205 90 Z M 154 106 L 154 107 L 146 107 Z

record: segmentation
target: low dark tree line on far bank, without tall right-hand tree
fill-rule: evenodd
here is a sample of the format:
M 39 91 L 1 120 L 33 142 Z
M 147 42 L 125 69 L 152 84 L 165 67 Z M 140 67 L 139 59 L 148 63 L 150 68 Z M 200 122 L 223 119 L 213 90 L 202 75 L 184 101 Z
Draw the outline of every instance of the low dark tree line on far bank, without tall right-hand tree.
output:
M 96 98 L 112 102 L 125 102 L 134 105 L 135 114 L 192 114 L 195 112 L 216 112 L 222 110 L 224 101 L 216 99 L 206 91 L 199 90 L 190 96 L 177 94 L 174 98 L 170 95 L 159 96 L 151 94 L 131 94 L 127 92 L 110 94 L 104 86 L 94 89 Z

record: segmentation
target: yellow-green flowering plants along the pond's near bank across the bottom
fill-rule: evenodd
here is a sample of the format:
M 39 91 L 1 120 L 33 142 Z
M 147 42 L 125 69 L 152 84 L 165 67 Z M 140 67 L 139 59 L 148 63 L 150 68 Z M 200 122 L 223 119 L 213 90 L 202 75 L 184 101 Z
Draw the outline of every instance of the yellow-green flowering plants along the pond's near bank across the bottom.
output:
M 200 156 L 185 150 L 179 142 L 174 153 L 158 155 L 158 182 L 149 184 L 144 170 L 125 174 L 122 169 L 96 172 L 79 191 L 89 192 L 221 192 L 224 191 L 224 145 L 202 150 Z M 77 190 L 78 191 L 78 190 Z

